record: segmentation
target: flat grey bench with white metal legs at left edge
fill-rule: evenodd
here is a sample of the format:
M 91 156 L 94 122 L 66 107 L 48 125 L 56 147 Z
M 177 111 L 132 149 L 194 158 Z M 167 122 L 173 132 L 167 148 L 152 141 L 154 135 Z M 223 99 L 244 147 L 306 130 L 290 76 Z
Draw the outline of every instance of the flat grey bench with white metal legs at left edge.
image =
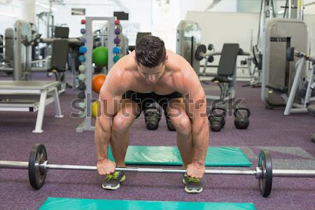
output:
M 0 111 L 29 111 L 37 113 L 34 133 L 43 132 L 43 116 L 45 106 L 55 103 L 56 118 L 63 118 L 56 81 L 0 81 L 2 95 L 40 95 L 39 101 L 25 99 L 0 99 Z

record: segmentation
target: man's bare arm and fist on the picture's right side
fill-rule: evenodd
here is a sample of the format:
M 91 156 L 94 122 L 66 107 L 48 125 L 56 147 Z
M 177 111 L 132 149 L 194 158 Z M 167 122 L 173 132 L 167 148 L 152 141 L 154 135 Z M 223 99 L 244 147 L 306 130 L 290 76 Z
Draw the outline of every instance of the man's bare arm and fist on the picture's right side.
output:
M 180 88 L 185 101 L 186 113 L 192 122 L 193 137 L 193 162 L 190 166 L 188 165 L 187 170 L 189 176 L 202 178 L 209 146 L 207 99 L 193 68 L 188 63 L 184 63 L 183 66 L 186 70 L 183 71 L 183 80 Z

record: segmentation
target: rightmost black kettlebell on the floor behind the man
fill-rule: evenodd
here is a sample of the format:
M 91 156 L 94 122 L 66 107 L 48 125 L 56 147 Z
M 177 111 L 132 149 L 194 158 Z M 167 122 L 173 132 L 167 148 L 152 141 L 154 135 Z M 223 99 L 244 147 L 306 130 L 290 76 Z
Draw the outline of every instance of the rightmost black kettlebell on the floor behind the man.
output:
M 244 105 L 238 105 L 233 110 L 235 116 L 234 125 L 237 129 L 246 129 L 249 125 L 249 116 L 251 116 L 251 110 Z

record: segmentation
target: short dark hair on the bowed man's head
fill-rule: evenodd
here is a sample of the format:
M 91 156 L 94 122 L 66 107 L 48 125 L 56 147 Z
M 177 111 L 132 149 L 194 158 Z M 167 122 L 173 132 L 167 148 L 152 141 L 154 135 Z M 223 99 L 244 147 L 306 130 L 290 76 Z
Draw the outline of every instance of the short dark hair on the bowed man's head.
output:
M 165 62 L 166 50 L 164 41 L 158 36 L 144 36 L 135 47 L 137 64 L 155 67 Z

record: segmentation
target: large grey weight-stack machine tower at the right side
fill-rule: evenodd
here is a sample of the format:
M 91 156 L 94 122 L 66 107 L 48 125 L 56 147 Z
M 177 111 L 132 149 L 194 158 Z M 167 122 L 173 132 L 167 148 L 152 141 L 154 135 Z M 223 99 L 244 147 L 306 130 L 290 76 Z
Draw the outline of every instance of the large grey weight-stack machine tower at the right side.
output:
M 295 77 L 295 63 L 286 59 L 286 50 L 294 46 L 296 50 L 308 52 L 309 34 L 307 25 L 302 20 L 272 19 L 265 27 L 262 49 L 262 87 L 261 98 L 266 108 L 285 106 L 286 102 L 278 92 L 269 92 L 268 84 L 288 87 L 290 92 Z M 306 75 L 305 66 L 300 76 Z M 299 103 L 299 102 L 297 102 Z

